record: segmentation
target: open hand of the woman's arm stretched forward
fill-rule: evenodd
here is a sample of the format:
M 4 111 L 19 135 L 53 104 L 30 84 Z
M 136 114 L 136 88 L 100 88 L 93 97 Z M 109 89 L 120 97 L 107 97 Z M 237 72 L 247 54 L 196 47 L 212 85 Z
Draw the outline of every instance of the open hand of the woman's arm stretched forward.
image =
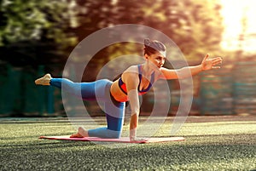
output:
M 207 54 L 201 62 L 201 70 L 206 71 L 206 70 L 211 70 L 211 69 L 218 69 L 220 66 L 217 66 L 218 64 L 222 63 L 222 58 L 221 57 L 216 57 L 216 58 L 211 58 L 208 59 L 209 54 Z

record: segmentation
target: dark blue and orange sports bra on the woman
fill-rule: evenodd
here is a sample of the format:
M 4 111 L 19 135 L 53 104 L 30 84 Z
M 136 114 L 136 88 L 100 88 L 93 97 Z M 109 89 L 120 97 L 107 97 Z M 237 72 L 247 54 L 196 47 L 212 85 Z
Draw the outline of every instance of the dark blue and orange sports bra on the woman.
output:
M 141 85 L 141 82 L 142 82 L 142 66 L 141 65 L 138 65 L 138 71 L 139 71 L 139 74 L 138 74 L 138 77 L 139 77 L 139 85 L 137 86 L 137 91 L 139 93 L 139 95 L 143 95 L 143 94 L 146 94 L 149 89 L 152 87 L 152 84 L 154 83 L 154 72 L 151 74 L 151 78 L 150 78 L 150 83 L 148 85 L 148 88 L 146 89 L 143 89 L 143 90 L 140 90 L 140 85 Z M 127 94 L 127 89 L 126 89 L 126 85 L 125 83 L 123 82 L 122 80 L 122 77 L 119 78 L 119 88 L 125 93 Z

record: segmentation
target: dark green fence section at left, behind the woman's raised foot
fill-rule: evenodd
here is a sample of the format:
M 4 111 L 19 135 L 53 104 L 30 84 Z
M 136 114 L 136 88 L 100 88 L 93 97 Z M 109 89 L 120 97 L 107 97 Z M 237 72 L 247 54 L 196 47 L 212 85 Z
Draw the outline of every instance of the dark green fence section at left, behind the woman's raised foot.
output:
M 44 74 L 44 66 L 0 65 L 0 117 L 55 116 L 63 114 L 61 91 L 50 86 L 36 86 L 34 80 Z

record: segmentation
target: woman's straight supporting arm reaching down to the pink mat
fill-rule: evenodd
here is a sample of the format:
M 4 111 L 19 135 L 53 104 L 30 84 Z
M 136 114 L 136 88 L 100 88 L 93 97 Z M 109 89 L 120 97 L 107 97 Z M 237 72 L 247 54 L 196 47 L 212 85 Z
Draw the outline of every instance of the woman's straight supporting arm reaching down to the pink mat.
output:
M 122 75 L 122 79 L 126 85 L 128 100 L 131 105 L 131 118 L 130 118 L 130 140 L 136 140 L 136 130 L 138 124 L 138 116 L 140 113 L 140 104 L 138 98 L 137 87 L 139 78 L 137 71 L 127 71 Z

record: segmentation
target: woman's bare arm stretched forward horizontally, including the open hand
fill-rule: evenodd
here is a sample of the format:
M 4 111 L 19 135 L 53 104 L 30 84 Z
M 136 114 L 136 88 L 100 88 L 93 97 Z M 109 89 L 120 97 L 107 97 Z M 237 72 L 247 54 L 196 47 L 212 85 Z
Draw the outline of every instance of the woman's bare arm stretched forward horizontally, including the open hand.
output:
M 170 70 L 166 68 L 160 68 L 162 73 L 162 77 L 164 79 L 183 79 L 190 76 L 195 76 L 196 74 L 200 73 L 201 71 L 207 71 L 215 68 L 220 68 L 217 66 L 218 64 L 222 63 L 222 58 L 216 57 L 212 59 L 208 59 L 209 54 L 205 56 L 202 60 L 201 65 L 198 66 L 187 66 L 177 70 Z

